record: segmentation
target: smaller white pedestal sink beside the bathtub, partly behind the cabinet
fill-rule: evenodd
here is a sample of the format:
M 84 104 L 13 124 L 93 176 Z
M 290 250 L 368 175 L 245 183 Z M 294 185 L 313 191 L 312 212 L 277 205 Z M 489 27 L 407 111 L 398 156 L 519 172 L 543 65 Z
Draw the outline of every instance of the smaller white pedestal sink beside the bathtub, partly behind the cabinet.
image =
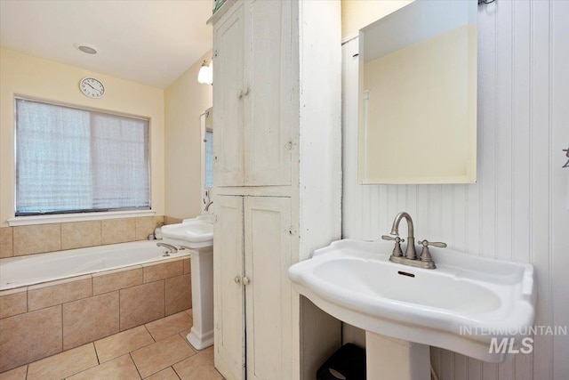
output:
M 203 215 L 162 227 L 164 242 L 190 250 L 192 326 L 187 339 L 197 350 L 213 344 L 213 219 Z

